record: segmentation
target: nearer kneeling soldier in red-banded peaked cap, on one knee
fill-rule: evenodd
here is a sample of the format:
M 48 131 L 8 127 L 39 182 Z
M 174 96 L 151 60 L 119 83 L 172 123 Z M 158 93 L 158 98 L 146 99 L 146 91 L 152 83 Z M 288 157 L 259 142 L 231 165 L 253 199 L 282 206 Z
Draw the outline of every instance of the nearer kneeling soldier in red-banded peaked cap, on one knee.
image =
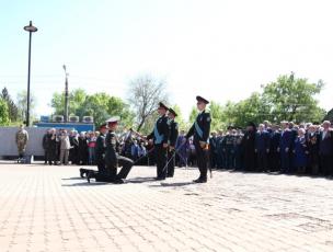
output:
M 91 177 L 94 177 L 96 181 L 100 182 L 112 182 L 116 184 L 123 184 L 124 180 L 127 177 L 134 162 L 130 159 L 117 153 L 119 141 L 115 131 L 118 126 L 118 121 L 119 117 L 117 116 L 106 121 L 108 133 L 105 137 L 105 173 L 89 173 L 88 182 L 90 182 Z M 117 167 L 122 167 L 119 173 L 117 173 Z

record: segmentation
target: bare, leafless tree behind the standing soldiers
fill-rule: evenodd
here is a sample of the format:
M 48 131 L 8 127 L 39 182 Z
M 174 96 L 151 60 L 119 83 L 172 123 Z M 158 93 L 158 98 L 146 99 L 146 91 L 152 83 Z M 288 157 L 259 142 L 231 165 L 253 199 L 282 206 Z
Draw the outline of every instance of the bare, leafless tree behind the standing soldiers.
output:
M 166 102 L 165 81 L 142 76 L 129 83 L 129 104 L 136 113 L 137 131 L 152 116 L 159 102 Z

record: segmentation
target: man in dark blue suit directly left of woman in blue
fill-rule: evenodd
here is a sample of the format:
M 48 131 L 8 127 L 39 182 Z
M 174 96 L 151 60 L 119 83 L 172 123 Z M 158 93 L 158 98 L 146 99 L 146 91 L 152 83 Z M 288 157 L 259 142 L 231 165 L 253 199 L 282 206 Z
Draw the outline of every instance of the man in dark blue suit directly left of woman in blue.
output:
M 283 121 L 280 124 L 283 130 L 280 133 L 279 146 L 277 151 L 280 153 L 282 173 L 289 173 L 291 171 L 290 150 L 292 148 L 294 134 L 288 127 L 288 122 Z

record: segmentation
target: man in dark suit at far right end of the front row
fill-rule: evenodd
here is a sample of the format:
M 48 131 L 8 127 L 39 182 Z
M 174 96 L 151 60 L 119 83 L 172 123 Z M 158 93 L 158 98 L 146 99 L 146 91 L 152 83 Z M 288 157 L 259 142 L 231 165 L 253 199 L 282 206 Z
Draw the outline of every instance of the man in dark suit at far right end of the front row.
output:
M 322 127 L 319 137 L 319 156 L 322 173 L 326 176 L 333 175 L 333 130 L 330 121 L 324 121 Z

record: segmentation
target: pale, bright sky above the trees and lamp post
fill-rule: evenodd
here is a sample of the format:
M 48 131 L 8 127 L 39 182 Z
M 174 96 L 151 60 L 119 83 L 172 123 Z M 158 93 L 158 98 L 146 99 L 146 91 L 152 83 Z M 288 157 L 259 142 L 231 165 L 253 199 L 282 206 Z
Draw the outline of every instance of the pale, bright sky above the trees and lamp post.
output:
M 1 1 L 0 88 L 26 90 L 30 20 L 32 92 L 37 114 L 69 88 L 127 95 L 142 73 L 166 80 L 170 101 L 188 114 L 197 94 L 220 103 L 260 91 L 295 71 L 323 79 L 320 105 L 332 108 L 333 3 L 330 0 Z

